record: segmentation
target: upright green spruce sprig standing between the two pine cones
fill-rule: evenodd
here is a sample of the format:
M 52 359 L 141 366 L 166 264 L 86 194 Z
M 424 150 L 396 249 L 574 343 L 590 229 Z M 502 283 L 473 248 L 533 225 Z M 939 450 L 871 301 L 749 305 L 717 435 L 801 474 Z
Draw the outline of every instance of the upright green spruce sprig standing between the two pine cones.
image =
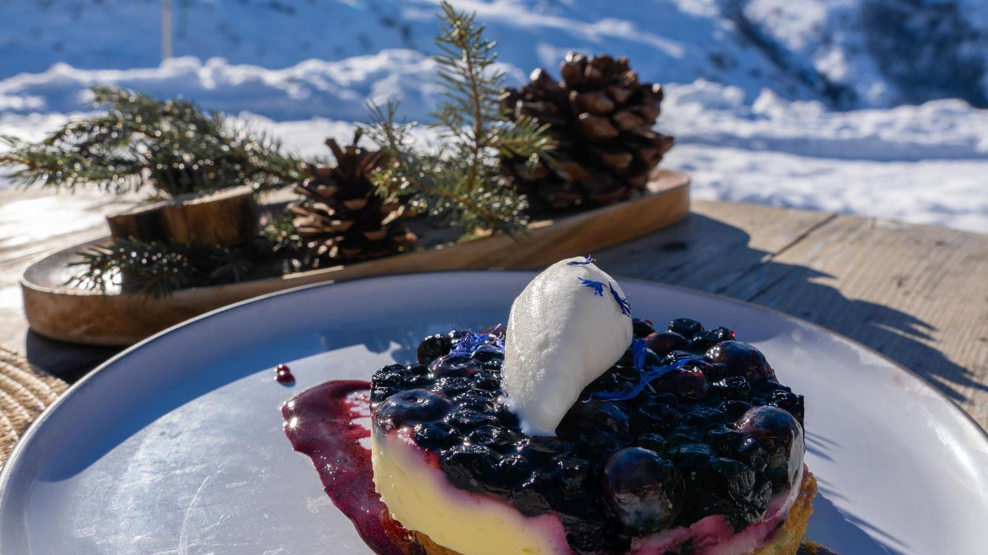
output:
M 438 77 L 445 102 L 430 126 L 442 137 L 438 148 L 420 148 L 412 136 L 416 123 L 398 119 L 398 105 L 371 105 L 371 124 L 362 128 L 384 150 L 390 163 L 373 181 L 381 195 L 410 198 L 433 217 L 446 218 L 464 235 L 524 232 L 527 200 L 500 184 L 498 155 L 547 159 L 555 147 L 547 126 L 532 119 L 512 121 L 501 113 L 504 73 L 495 63 L 496 43 L 483 36 L 474 14 L 441 4 Z

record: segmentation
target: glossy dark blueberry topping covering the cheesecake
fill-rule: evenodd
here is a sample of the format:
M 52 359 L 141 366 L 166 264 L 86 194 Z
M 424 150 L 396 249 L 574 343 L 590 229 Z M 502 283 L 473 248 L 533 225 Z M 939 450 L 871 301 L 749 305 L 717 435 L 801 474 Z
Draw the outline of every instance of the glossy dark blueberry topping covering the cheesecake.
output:
M 555 437 L 522 433 L 501 397 L 500 326 L 428 337 L 416 363 L 377 370 L 372 423 L 411 428 L 460 489 L 558 515 L 581 553 L 625 552 L 635 536 L 707 515 L 735 530 L 761 519 L 802 468 L 803 397 L 727 328 L 680 318 L 664 330 L 633 319 L 632 329 L 644 366 L 668 370 L 618 395 L 642 383 L 628 347 Z

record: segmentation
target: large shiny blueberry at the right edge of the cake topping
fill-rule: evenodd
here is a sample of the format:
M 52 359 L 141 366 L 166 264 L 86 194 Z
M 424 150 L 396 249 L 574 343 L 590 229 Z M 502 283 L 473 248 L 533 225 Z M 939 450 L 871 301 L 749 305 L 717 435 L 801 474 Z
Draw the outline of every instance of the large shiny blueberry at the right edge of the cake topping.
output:
M 755 407 L 745 413 L 734 428 L 768 447 L 768 473 L 774 492 L 793 485 L 802 468 L 806 447 L 802 427 L 792 415 L 777 407 Z

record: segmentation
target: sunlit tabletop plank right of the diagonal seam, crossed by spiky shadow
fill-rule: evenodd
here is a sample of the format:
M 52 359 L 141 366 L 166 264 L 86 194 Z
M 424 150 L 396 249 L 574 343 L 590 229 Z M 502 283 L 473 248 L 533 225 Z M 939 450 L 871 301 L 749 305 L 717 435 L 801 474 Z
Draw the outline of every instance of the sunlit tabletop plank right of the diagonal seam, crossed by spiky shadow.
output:
M 988 237 L 838 216 L 722 292 L 854 338 L 988 426 Z

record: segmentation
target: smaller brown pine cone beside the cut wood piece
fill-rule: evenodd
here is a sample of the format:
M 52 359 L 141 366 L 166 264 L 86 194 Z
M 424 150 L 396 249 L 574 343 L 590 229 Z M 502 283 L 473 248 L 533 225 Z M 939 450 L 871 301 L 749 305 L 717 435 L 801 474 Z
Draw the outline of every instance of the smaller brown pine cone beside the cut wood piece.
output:
M 417 239 L 400 221 L 404 203 L 376 195 L 371 174 L 384 153 L 357 146 L 360 137 L 358 130 L 353 144 L 344 148 L 327 139 L 336 166 L 305 164 L 310 177 L 295 186 L 295 192 L 306 198 L 288 210 L 295 215 L 295 229 L 316 261 L 345 263 L 385 257 L 404 251 Z

